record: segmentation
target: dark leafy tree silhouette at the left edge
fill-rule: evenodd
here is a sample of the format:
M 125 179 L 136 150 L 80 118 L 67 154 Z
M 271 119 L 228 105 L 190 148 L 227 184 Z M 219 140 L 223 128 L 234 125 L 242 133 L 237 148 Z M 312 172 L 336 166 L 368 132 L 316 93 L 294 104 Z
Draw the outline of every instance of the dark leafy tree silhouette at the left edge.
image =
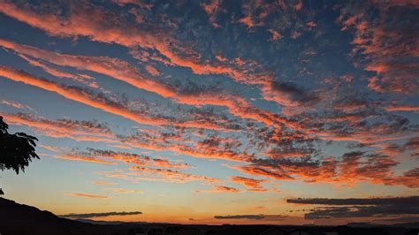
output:
M 19 174 L 19 170 L 25 172 L 33 158 L 39 156 L 35 153 L 37 141 L 34 136 L 26 133 L 8 133 L 9 125 L 4 123 L 0 116 L 0 170 L 13 170 Z M 0 195 L 3 195 L 0 188 Z

